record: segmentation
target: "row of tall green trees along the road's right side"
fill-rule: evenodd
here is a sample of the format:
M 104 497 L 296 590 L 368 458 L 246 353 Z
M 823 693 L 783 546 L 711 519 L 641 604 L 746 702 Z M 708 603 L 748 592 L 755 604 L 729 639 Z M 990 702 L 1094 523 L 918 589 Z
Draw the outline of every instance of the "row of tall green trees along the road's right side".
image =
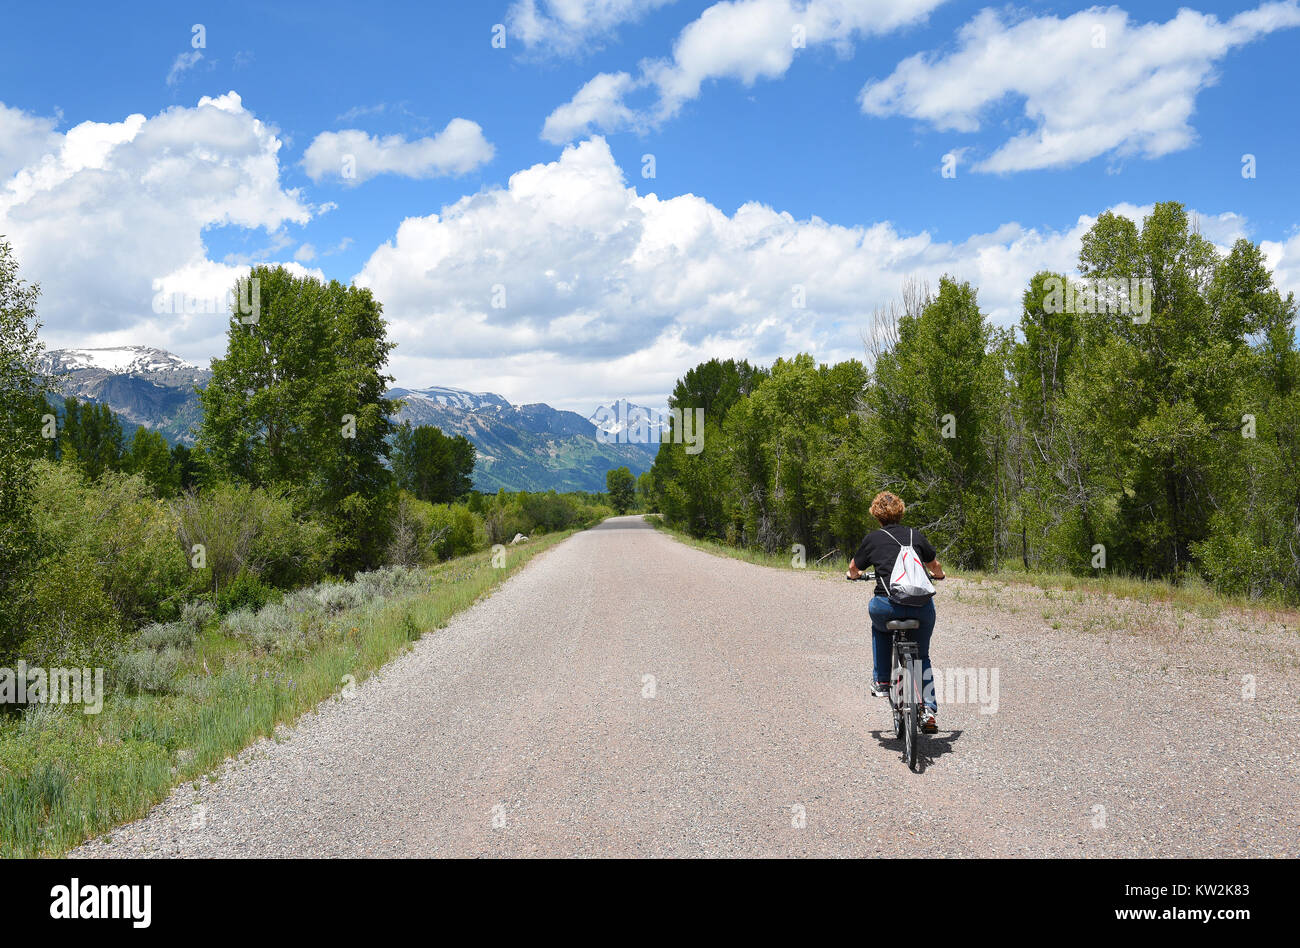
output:
M 1295 317 L 1258 244 L 1219 252 L 1176 203 L 1104 213 L 1015 329 L 945 277 L 878 309 L 861 362 L 690 369 L 670 403 L 705 408 L 705 450 L 660 446 L 654 503 L 699 537 L 846 555 L 889 489 L 961 567 L 1297 602 Z

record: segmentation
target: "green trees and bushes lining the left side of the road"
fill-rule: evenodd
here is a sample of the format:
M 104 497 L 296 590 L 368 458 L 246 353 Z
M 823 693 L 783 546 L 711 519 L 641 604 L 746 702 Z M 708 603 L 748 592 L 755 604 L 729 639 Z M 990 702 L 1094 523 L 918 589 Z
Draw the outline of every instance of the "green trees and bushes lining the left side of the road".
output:
M 256 281 L 257 293 L 250 293 Z M 472 490 L 474 447 L 398 425 L 369 290 L 256 267 L 194 447 L 53 399 L 39 287 L 0 242 L 0 666 L 108 663 L 142 624 L 585 527 L 603 498 Z

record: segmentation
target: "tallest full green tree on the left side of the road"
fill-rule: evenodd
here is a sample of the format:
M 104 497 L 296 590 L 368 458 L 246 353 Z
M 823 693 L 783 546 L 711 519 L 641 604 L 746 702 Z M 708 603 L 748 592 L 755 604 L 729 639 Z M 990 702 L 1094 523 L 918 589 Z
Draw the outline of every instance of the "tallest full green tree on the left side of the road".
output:
M 382 559 L 395 502 L 385 464 L 396 403 L 384 397 L 393 343 L 369 290 L 256 267 L 237 285 L 226 355 L 200 393 L 199 447 L 214 473 L 282 486 L 334 536 L 335 567 Z M 256 321 L 252 321 L 252 320 Z M 246 321 L 247 320 L 247 321 Z

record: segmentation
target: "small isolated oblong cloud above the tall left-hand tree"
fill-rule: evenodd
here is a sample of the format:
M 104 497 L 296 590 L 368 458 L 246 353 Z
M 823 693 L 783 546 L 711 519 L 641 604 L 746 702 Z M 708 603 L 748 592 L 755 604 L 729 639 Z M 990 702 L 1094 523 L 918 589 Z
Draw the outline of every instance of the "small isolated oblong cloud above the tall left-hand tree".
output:
M 335 177 L 359 185 L 385 173 L 408 178 L 464 174 L 491 161 L 493 153 L 478 122 L 452 118 L 433 138 L 415 142 L 402 135 L 378 138 L 356 129 L 322 131 L 307 147 L 303 166 L 312 181 Z

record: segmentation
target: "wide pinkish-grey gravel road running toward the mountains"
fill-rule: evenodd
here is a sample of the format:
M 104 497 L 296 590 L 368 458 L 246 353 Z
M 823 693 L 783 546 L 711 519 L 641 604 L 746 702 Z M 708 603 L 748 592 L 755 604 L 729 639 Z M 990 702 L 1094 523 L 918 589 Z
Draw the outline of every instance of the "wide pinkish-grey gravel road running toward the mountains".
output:
M 870 592 L 616 518 L 74 856 L 1300 854 L 1294 619 L 950 580 L 913 774 Z

